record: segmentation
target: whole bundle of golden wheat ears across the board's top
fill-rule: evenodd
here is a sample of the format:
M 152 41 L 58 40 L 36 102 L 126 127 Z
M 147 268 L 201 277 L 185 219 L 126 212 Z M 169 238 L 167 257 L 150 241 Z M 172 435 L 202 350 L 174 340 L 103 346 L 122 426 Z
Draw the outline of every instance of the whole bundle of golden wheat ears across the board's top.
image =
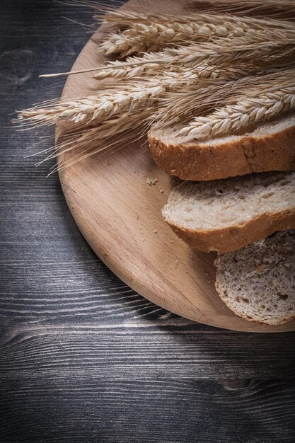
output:
M 71 2 L 93 8 L 96 26 L 109 23 L 98 50 L 112 61 L 88 70 L 95 79 L 108 79 L 103 90 L 100 83 L 89 96 L 52 100 L 18 114 L 21 125 L 69 128 L 47 159 L 73 148 L 76 154 L 57 161 L 54 170 L 117 149 L 151 125 L 177 121 L 183 126 L 179 136 L 204 140 L 295 108 L 294 0 L 177 3 L 183 15 Z

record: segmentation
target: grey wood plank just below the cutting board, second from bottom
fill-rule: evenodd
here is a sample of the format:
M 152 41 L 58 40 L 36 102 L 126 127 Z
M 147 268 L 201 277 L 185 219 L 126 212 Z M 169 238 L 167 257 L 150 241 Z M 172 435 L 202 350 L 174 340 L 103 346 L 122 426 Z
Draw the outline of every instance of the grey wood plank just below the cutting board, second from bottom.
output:
M 237 337 L 226 331 L 196 330 L 182 319 L 171 319 L 163 327 L 161 321 L 145 322 L 143 314 L 134 318 L 136 311 L 146 306 L 134 309 L 134 316 L 122 325 L 120 302 L 110 309 L 107 305 L 102 308 L 109 318 L 109 324 L 105 324 L 99 316 L 92 314 L 89 318 L 82 306 L 74 326 L 64 324 L 64 312 L 59 324 L 53 326 L 45 326 L 40 313 L 36 324 L 23 326 L 22 330 L 5 328 L 0 371 L 27 376 L 90 371 L 100 379 L 165 375 L 176 379 L 294 377 L 295 345 L 290 333 L 282 334 L 281 340 L 275 335 Z M 50 306 L 47 309 L 50 311 Z M 90 321 L 86 323 L 85 318 Z

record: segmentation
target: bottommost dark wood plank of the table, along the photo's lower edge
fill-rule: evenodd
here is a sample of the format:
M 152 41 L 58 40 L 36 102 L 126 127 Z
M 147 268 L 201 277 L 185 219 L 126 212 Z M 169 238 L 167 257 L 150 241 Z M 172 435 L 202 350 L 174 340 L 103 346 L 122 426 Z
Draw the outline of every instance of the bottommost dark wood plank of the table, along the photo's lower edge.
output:
M 60 375 L 11 379 L 0 393 L 8 399 L 1 442 L 291 443 L 295 437 L 295 385 L 284 381 Z

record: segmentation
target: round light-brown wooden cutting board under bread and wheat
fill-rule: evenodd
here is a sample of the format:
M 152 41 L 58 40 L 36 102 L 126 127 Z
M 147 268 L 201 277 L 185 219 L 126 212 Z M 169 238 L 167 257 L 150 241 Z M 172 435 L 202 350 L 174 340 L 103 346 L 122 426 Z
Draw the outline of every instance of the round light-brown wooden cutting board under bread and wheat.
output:
M 124 8 L 139 11 L 179 11 L 178 0 L 131 0 Z M 104 61 L 99 42 L 102 27 L 79 55 L 73 70 Z M 69 76 L 63 98 L 98 90 L 93 73 Z M 57 128 L 57 140 L 62 137 Z M 100 154 L 60 171 L 69 209 L 89 245 L 115 274 L 155 304 L 190 320 L 219 328 L 251 332 L 295 330 L 295 321 L 283 326 L 260 326 L 239 318 L 214 289 L 214 254 L 192 251 L 161 217 L 173 185 L 159 171 L 149 147 L 141 142 L 123 144 L 115 154 Z M 62 154 L 71 159 L 74 153 Z M 154 184 L 151 184 L 150 181 Z

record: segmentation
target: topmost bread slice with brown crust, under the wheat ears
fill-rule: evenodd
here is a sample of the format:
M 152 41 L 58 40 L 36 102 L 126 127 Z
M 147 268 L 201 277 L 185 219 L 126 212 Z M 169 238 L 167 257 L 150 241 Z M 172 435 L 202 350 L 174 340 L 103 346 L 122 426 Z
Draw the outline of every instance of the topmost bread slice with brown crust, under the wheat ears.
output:
M 295 169 L 295 113 L 252 128 L 248 133 L 208 142 L 176 137 L 180 128 L 152 129 L 148 137 L 158 167 L 183 180 L 215 180 Z

